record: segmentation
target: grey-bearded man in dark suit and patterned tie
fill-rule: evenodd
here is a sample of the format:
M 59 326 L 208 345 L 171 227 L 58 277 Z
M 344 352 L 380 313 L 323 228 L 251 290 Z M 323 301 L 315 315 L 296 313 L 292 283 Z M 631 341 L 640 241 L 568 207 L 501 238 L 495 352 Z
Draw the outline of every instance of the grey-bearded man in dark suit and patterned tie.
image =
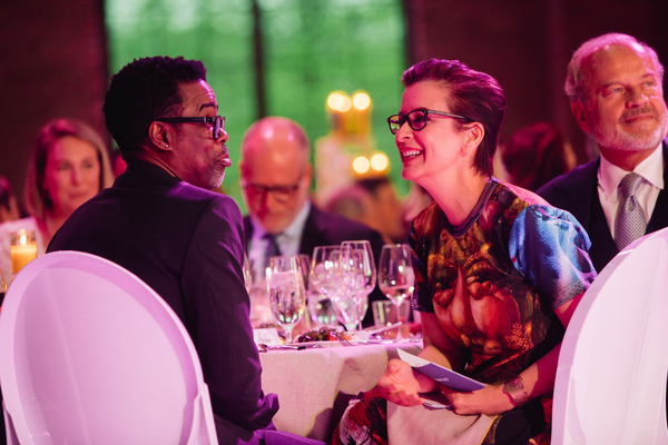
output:
M 598 271 L 633 239 L 668 227 L 662 79 L 654 49 L 626 34 L 584 42 L 569 63 L 564 88 L 571 110 L 598 142 L 600 157 L 538 194 L 582 224 Z M 627 222 L 631 217 L 625 209 L 636 212 L 633 222 Z

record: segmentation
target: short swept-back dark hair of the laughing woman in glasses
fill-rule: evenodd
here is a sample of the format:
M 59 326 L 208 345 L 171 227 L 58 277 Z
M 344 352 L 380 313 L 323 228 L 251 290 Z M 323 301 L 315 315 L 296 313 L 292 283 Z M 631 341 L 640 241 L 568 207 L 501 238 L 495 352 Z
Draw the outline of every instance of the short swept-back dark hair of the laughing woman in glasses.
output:
M 505 96 L 499 82 L 490 75 L 475 71 L 459 60 L 444 59 L 424 60 L 409 68 L 401 78 L 404 87 L 424 80 L 433 80 L 448 88 L 450 110 L 446 111 L 465 116 L 482 125 L 484 137 L 478 147 L 474 166 L 481 174 L 491 176 L 505 111 Z M 466 128 L 466 121 L 454 121 L 460 129 Z

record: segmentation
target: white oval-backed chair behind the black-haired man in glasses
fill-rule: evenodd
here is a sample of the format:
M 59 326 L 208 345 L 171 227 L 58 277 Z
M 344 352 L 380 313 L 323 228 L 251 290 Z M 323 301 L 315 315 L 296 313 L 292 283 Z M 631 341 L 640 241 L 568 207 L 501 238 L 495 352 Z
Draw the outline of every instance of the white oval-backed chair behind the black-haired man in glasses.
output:
M 47 254 L 0 314 L 9 444 L 217 444 L 193 342 L 144 281 L 104 258 Z

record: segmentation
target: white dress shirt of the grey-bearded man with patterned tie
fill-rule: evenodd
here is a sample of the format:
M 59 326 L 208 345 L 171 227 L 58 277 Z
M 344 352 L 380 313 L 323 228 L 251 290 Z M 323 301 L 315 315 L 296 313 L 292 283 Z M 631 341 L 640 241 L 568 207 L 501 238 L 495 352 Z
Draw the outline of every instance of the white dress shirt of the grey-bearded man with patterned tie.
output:
M 645 218 L 648 222 L 657 204 L 659 191 L 664 189 L 664 150 L 661 146 L 659 144 L 657 149 L 633 169 L 633 172 L 642 177 L 642 182 L 636 190 L 636 199 L 645 210 Z M 601 164 L 598 170 L 598 192 L 612 239 L 615 239 L 615 220 L 619 207 L 619 182 L 628 174 L 630 171 L 617 167 L 601 154 Z

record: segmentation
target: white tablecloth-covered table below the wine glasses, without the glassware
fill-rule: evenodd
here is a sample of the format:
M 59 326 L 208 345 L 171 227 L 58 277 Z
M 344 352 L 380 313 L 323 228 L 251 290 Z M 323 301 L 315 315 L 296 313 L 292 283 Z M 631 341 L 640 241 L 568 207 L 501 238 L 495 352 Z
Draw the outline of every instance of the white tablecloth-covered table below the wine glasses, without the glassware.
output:
M 274 424 L 279 431 L 330 443 L 347 403 L 372 389 L 397 349 L 418 355 L 422 342 L 343 346 L 320 342 L 320 347 L 269 349 L 259 354 L 262 387 L 278 395 Z

